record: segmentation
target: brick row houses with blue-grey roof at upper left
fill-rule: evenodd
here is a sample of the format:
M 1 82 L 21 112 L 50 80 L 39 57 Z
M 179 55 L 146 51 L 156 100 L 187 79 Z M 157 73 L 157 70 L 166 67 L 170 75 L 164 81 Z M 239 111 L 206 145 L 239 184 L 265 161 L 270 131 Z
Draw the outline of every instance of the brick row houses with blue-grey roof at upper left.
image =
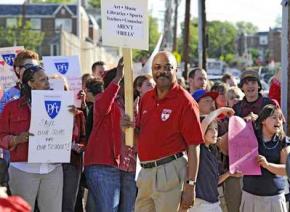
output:
M 80 14 L 80 35 L 78 35 L 78 14 Z M 23 4 L 0 5 L 0 26 L 13 27 L 22 18 L 30 21 L 32 30 L 44 32 L 44 40 L 38 52 L 42 56 L 60 54 L 60 31 L 79 36 L 81 40 L 97 44 L 99 28 L 92 16 L 77 5 Z M 7 46 L 0 42 L 1 46 Z

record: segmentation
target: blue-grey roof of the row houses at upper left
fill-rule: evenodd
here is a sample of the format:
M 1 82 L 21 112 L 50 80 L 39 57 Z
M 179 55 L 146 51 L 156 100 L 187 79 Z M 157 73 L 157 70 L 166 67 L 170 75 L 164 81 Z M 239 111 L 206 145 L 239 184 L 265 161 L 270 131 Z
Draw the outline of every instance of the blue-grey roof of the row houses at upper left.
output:
M 23 4 L 1 4 L 0 16 L 22 15 Z M 26 16 L 54 16 L 59 7 L 64 6 L 73 15 L 77 15 L 77 5 L 62 4 L 26 4 Z

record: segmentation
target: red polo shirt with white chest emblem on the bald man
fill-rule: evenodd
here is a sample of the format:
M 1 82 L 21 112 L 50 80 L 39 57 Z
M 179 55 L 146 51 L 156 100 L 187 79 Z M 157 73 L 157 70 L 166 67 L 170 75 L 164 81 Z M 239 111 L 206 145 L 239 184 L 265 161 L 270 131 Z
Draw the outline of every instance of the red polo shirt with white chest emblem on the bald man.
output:
M 203 143 L 198 105 L 178 84 L 158 100 L 156 89 L 140 102 L 136 127 L 140 161 L 157 160 Z

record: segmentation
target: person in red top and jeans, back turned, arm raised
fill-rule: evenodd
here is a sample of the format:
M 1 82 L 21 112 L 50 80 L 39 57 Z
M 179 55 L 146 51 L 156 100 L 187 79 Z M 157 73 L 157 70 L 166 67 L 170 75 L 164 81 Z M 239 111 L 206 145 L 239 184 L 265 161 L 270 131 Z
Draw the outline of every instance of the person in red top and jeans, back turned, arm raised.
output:
M 93 127 L 84 156 L 85 176 L 95 211 L 133 211 L 136 198 L 136 153 L 124 144 L 123 61 L 108 71 L 105 90 L 96 95 Z

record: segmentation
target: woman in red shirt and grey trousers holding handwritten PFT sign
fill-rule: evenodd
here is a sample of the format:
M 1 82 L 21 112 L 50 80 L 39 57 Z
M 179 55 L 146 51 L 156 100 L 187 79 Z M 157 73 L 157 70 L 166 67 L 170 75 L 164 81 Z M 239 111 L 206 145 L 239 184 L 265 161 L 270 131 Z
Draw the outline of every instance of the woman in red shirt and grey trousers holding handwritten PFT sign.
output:
M 63 172 L 61 164 L 28 163 L 31 90 L 48 90 L 48 77 L 40 66 L 26 66 L 20 99 L 9 102 L 1 114 L 0 146 L 10 151 L 9 186 L 13 195 L 33 210 L 37 198 L 41 212 L 61 212 Z

